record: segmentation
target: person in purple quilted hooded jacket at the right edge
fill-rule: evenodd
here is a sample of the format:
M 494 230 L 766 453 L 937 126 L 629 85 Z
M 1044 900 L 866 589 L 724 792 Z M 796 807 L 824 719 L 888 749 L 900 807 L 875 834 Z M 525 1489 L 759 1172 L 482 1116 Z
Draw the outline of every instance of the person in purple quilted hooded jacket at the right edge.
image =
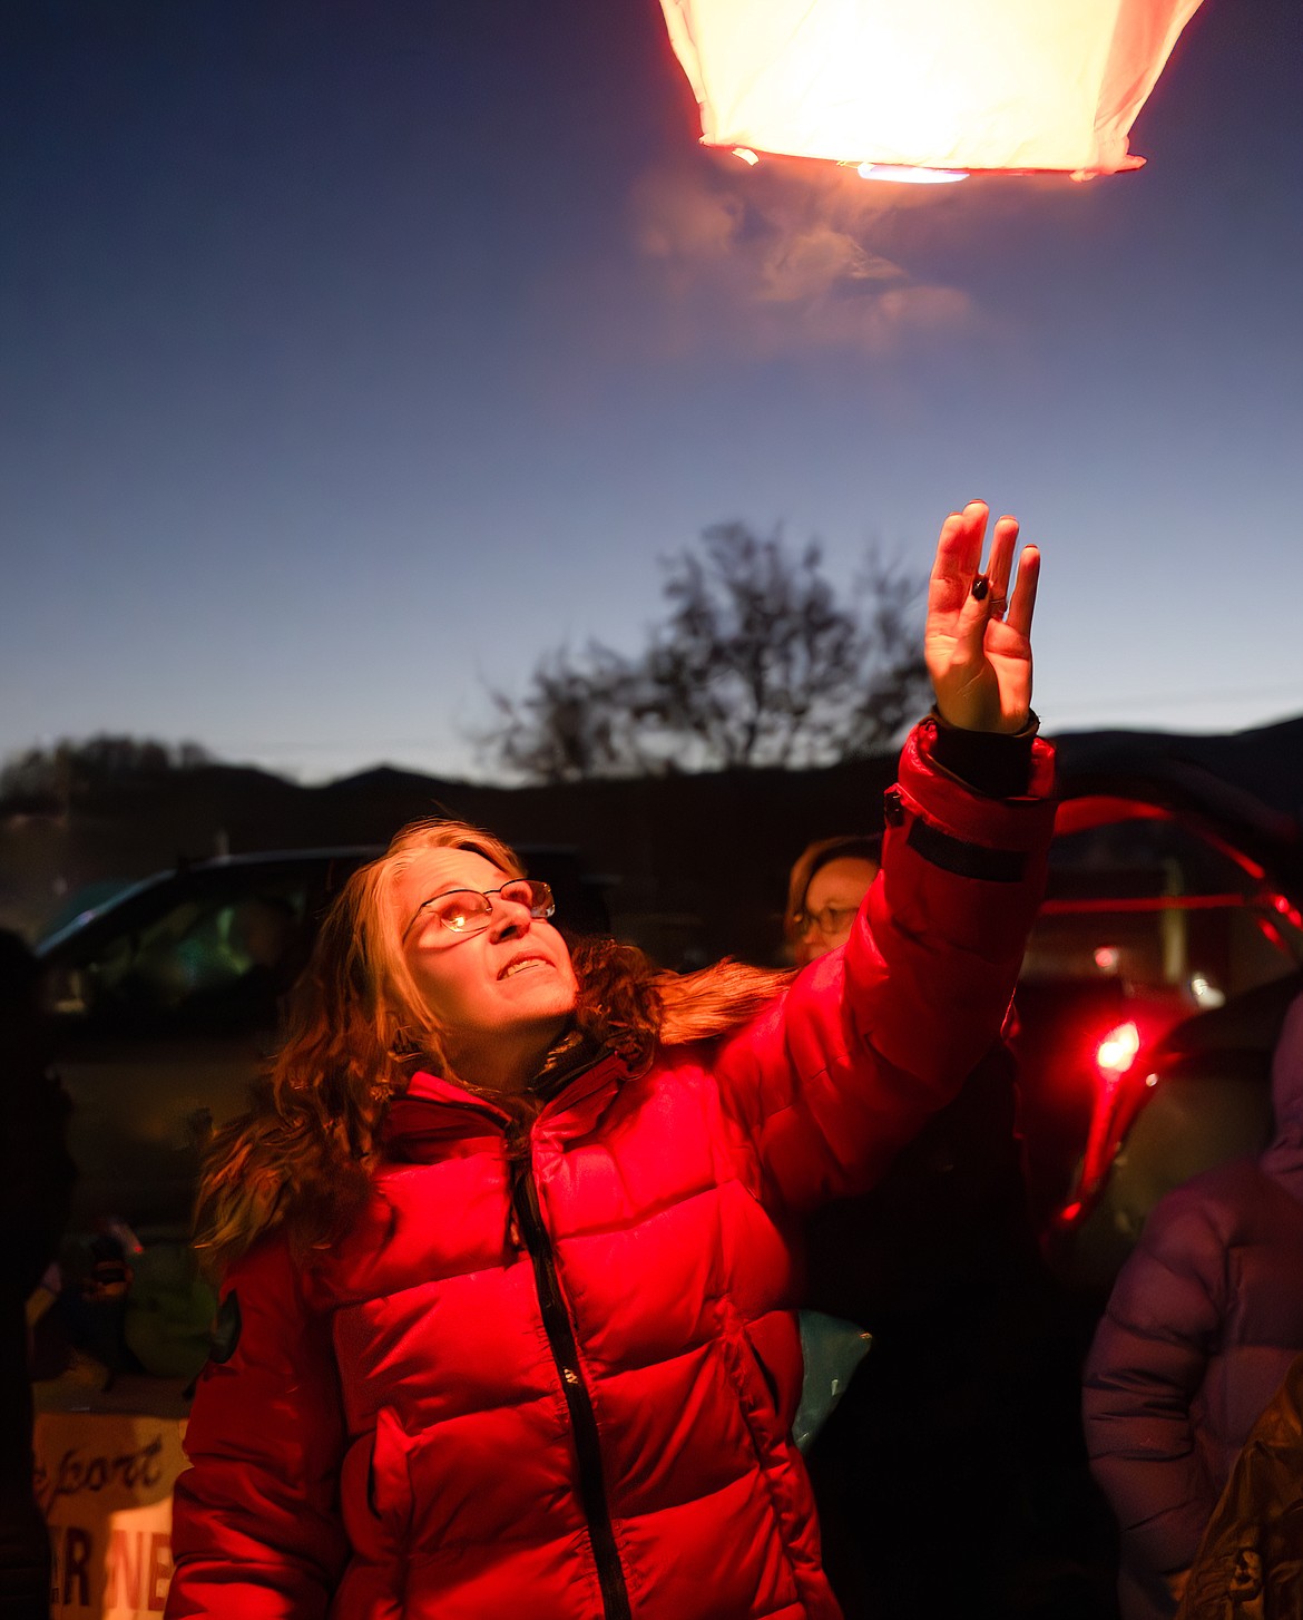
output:
M 1240 1447 L 1303 1353 L 1303 996 L 1272 1053 L 1272 1111 L 1264 1153 L 1156 1205 L 1086 1361 L 1086 1440 L 1122 1533 L 1123 1620 L 1175 1612 Z

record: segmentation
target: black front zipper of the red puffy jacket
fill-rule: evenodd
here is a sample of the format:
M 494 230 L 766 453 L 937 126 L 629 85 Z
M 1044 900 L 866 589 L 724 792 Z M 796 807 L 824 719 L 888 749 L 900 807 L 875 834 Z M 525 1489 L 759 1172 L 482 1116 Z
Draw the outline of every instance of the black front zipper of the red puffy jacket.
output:
M 547 1236 L 547 1228 L 542 1223 L 534 1166 L 528 1158 L 520 1163 L 518 1173 L 513 1176 L 511 1205 L 516 1225 L 524 1239 L 524 1247 L 529 1251 L 529 1259 L 534 1265 L 534 1285 L 539 1291 L 542 1325 L 547 1332 L 547 1343 L 552 1349 L 552 1359 L 557 1362 L 565 1401 L 570 1408 L 570 1426 L 575 1434 L 575 1452 L 579 1460 L 579 1500 L 588 1518 L 592 1557 L 597 1563 L 602 1610 L 607 1620 L 631 1620 L 630 1594 L 625 1586 L 625 1571 L 620 1567 L 620 1552 L 615 1545 L 610 1508 L 607 1507 L 597 1418 L 579 1374 L 579 1348 L 575 1343 L 570 1312 L 562 1299 L 552 1239 Z

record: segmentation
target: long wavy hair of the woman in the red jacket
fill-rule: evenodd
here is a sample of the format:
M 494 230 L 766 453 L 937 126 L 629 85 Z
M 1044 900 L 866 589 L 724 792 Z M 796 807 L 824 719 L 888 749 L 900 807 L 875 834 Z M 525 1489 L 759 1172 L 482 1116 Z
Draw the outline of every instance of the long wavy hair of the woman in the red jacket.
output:
M 353 873 L 290 993 L 285 1042 L 257 1081 L 251 1110 L 209 1145 L 196 1247 L 212 1275 L 282 1225 L 301 1254 L 335 1241 L 366 1197 L 390 1098 L 418 1069 L 448 1072 L 447 1032 L 403 954 L 397 894 L 398 876 L 431 849 L 465 849 L 507 876 L 524 876 L 500 839 L 434 820 L 405 826 L 384 855 Z M 651 1064 L 657 1043 L 706 1040 L 745 1024 L 792 977 L 727 959 L 667 974 L 615 940 L 568 944 L 579 987 L 573 1027 L 618 1051 L 633 1072 Z M 516 1106 L 528 1110 L 529 1100 Z

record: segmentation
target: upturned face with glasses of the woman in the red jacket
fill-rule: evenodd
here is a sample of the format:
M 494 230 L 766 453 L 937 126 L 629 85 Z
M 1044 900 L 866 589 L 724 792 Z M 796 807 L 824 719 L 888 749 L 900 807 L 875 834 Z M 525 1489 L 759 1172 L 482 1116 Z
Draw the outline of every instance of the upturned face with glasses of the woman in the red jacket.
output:
M 453 889 L 494 891 L 511 878 L 468 849 L 421 850 L 395 883 L 403 954 L 445 1032 L 455 1072 L 476 1085 L 520 1090 L 575 1008 L 565 940 L 528 904 L 490 894 L 482 928 L 445 928 L 426 901 Z

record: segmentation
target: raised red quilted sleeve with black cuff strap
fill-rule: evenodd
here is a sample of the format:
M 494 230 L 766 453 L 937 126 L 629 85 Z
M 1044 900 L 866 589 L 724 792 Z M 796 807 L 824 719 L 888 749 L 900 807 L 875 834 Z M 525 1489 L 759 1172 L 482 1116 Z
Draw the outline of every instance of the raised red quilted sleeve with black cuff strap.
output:
M 720 1050 L 724 1106 L 792 1209 L 866 1191 L 1000 1034 L 1044 888 L 1052 752 L 1029 794 L 989 799 L 910 735 L 882 870 L 850 941 Z

